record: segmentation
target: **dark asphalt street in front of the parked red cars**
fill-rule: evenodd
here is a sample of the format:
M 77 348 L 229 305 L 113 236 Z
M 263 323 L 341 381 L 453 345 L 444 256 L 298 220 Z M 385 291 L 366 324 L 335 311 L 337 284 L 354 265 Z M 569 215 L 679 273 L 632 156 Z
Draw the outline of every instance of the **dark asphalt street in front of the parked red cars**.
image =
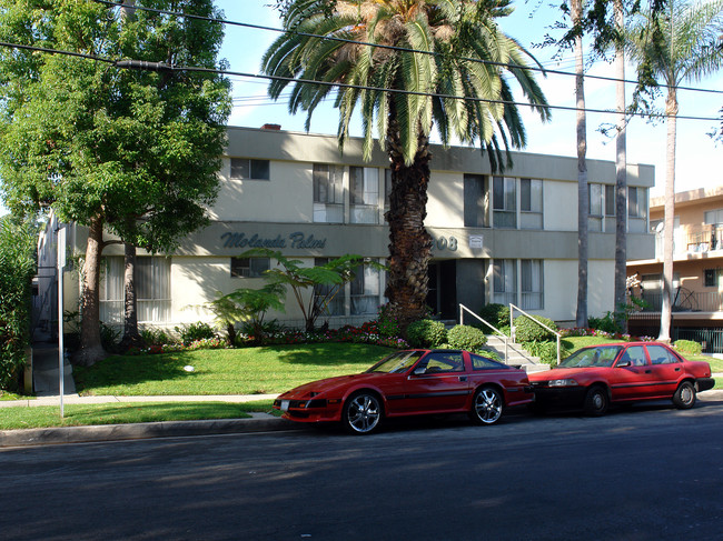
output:
M 723 401 L 0 450 L 3 540 L 717 540 Z

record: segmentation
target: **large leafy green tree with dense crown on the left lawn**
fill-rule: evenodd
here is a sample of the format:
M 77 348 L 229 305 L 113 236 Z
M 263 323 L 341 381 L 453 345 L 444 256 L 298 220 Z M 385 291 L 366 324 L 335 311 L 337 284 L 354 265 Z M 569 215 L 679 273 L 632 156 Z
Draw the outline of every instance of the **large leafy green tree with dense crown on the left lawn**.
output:
M 211 0 L 138 7 L 218 16 Z M 0 0 L 0 38 L 91 58 L 217 68 L 217 24 L 91 0 Z M 121 21 L 123 21 L 121 23 Z M 205 221 L 229 113 L 220 76 L 112 63 L 20 48 L 0 51 L 0 173 L 16 213 L 51 207 L 89 229 L 82 269 L 81 352 L 100 344 L 98 283 L 103 230 L 150 250 L 172 247 Z

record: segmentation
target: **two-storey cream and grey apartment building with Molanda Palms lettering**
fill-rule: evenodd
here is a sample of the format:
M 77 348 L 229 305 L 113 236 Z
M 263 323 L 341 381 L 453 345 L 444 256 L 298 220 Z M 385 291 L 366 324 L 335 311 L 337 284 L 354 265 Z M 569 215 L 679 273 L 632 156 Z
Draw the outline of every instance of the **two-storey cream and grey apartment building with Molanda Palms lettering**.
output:
M 339 153 L 336 137 L 278 129 L 228 129 L 219 172 L 221 188 L 211 224 L 186 238 L 168 257 L 140 253 L 139 321 L 174 328 L 210 321 L 200 308 L 217 291 L 257 287 L 274 261 L 241 258 L 252 247 L 280 250 L 308 266 L 346 253 L 380 262 L 388 254 L 384 222 L 389 190 L 388 159 L 375 150 L 361 158 L 353 139 Z M 575 319 L 577 291 L 577 160 L 514 153 L 504 176 L 492 174 L 478 149 L 432 148 L 432 180 L 425 224 L 434 239 L 428 304 L 444 319 L 458 303 L 473 311 L 509 302 L 563 324 Z M 588 160 L 591 183 L 588 313 L 613 309 L 615 164 Z M 652 166 L 628 166 L 628 253 L 653 257 L 647 192 Z M 53 223 L 49 224 L 48 233 Z M 70 228 L 69 244 L 85 251 L 85 228 Z M 49 247 L 46 242 L 46 247 Z M 122 321 L 122 247 L 103 251 L 101 319 Z M 70 275 L 70 274 L 69 274 Z M 78 281 L 67 281 L 66 310 L 77 310 Z M 385 274 L 359 272 L 329 313 L 331 327 L 376 317 L 385 303 Z M 301 324 L 293 299 L 287 325 Z M 52 315 L 48 320 L 52 320 Z

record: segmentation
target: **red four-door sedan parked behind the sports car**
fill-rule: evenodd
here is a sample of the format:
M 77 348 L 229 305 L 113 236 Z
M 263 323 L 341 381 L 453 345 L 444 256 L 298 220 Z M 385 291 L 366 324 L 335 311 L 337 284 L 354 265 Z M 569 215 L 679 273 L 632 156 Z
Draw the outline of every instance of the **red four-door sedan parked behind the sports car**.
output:
M 603 415 L 611 403 L 671 399 L 685 410 L 695 393 L 712 389 L 711 365 L 689 361 L 663 343 L 623 342 L 575 351 L 558 367 L 529 374 L 535 408 L 582 407 Z

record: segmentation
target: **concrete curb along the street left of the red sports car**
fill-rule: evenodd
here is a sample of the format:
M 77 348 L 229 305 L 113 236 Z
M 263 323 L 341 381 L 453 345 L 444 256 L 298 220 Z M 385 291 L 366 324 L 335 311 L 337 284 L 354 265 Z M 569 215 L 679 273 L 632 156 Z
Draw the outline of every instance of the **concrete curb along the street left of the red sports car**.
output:
M 100 441 L 178 438 L 186 435 L 235 434 L 297 430 L 298 424 L 266 413 L 251 419 L 216 419 L 209 421 L 166 421 L 133 424 L 99 424 L 0 431 L 0 448 L 89 443 Z

